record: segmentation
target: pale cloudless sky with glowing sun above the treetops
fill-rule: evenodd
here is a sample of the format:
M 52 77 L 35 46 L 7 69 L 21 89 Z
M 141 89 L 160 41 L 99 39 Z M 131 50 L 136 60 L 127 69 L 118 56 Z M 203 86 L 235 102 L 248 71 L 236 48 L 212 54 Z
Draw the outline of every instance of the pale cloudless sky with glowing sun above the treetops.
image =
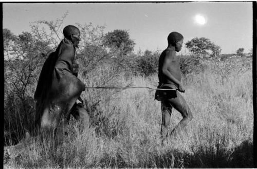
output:
M 235 53 L 241 47 L 249 52 L 252 48 L 251 2 L 6 3 L 3 28 L 17 35 L 30 31 L 30 22 L 54 21 L 67 11 L 64 26 L 92 22 L 106 25 L 105 32 L 128 30 L 136 43 L 135 52 L 165 49 L 172 31 L 180 32 L 184 43 L 196 36 L 207 37 L 222 48 L 222 53 Z M 186 52 L 185 45 L 181 52 Z

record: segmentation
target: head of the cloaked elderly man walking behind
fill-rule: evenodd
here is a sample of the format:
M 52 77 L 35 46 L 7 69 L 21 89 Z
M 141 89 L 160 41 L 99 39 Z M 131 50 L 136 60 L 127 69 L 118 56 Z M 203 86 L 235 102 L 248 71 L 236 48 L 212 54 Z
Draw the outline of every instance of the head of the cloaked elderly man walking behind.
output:
M 80 42 L 80 30 L 76 26 L 68 25 L 63 29 L 63 34 L 66 39 L 70 40 L 74 46 L 78 47 Z

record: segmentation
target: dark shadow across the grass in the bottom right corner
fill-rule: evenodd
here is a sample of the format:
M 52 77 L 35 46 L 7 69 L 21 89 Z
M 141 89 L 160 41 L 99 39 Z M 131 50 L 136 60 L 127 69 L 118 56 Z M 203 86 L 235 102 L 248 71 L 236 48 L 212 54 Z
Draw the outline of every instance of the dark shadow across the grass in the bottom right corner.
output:
M 179 151 L 172 151 L 156 156 L 155 165 L 157 168 L 252 168 L 253 165 L 253 144 L 244 141 L 240 146 L 231 151 L 225 149 L 209 148 L 207 151 L 199 149 L 196 153 L 183 154 Z M 149 166 L 151 167 L 151 166 Z

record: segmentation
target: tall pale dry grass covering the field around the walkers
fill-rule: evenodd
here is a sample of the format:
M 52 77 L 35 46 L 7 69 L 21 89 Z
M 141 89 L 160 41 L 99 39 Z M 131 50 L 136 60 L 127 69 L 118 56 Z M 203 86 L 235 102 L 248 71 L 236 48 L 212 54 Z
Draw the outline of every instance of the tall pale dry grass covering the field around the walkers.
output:
M 158 82 L 157 76 L 118 79 L 114 84 L 120 86 L 131 82 L 133 86 L 157 86 Z M 101 76 L 95 76 L 84 82 L 96 85 L 100 80 Z M 184 132 L 163 146 L 155 91 L 90 89 L 82 94 L 84 101 L 89 106 L 101 101 L 89 112 L 95 119 L 87 133 L 80 133 L 72 120 L 61 145 L 53 147 L 52 140 L 33 138 L 5 168 L 253 167 L 252 71 L 222 76 L 206 70 L 187 76 L 183 83 L 186 92 L 182 96 L 194 118 Z M 173 110 L 170 128 L 180 119 Z

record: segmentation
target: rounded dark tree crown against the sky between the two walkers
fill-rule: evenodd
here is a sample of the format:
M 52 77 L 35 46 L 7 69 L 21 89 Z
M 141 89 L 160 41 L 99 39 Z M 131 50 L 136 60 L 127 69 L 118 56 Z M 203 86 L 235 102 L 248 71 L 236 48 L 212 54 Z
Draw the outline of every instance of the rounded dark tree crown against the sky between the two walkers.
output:
M 114 30 L 104 36 L 104 44 L 117 55 L 127 55 L 134 50 L 135 42 L 126 30 Z

